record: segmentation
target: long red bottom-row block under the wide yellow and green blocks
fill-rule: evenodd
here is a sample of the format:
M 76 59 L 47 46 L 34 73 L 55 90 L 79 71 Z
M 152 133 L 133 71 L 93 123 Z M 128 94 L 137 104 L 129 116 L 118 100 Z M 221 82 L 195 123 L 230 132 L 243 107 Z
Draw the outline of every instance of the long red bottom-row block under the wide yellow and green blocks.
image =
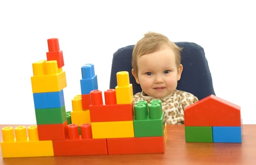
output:
M 107 139 L 109 155 L 165 153 L 165 140 L 159 137 Z

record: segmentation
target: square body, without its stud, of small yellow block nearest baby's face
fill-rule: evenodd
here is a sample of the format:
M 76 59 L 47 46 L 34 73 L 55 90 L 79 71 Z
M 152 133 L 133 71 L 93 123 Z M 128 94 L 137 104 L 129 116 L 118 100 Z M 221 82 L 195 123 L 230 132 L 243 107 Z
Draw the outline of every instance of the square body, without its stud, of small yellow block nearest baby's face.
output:
M 132 84 L 126 87 L 116 86 L 116 98 L 117 104 L 130 104 L 133 101 L 133 89 Z

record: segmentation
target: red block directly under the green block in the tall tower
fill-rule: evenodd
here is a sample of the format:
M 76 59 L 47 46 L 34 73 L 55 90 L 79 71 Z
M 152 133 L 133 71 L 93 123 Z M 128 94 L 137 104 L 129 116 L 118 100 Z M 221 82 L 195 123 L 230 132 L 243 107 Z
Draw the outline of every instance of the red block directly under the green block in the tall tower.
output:
M 38 124 L 39 140 L 65 140 L 67 135 L 67 121 L 63 124 Z

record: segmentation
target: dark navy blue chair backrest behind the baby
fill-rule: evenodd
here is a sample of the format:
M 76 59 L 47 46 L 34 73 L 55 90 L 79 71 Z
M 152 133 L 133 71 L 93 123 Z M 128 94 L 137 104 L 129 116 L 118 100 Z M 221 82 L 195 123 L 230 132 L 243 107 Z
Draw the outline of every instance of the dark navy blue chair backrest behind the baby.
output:
M 203 48 L 193 42 L 175 42 L 182 47 L 181 57 L 183 72 L 177 89 L 187 91 L 195 95 L 198 99 L 203 99 L 210 94 L 215 95 L 208 61 L 205 58 Z M 110 89 L 117 86 L 117 72 L 128 71 L 130 83 L 133 85 L 133 93 L 141 91 L 140 85 L 136 83 L 131 74 L 131 58 L 134 45 L 118 49 L 112 59 Z

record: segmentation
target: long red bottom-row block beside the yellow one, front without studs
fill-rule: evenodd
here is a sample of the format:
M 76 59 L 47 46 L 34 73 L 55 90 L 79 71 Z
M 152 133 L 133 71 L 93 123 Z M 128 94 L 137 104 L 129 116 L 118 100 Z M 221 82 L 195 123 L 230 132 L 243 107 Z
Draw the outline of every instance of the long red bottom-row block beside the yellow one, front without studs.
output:
M 107 155 L 106 139 L 53 140 L 54 156 Z

